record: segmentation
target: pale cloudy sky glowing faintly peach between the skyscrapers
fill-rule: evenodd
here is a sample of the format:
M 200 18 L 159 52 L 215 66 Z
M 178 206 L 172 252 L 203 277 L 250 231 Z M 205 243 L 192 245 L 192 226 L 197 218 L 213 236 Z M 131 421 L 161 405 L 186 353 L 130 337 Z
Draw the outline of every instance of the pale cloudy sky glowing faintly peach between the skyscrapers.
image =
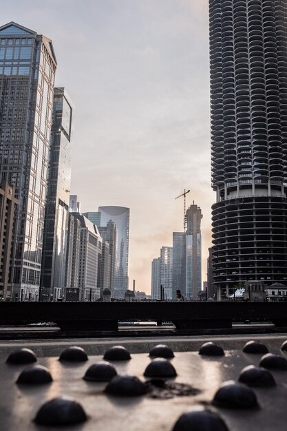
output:
M 75 105 L 71 193 L 81 212 L 129 207 L 129 286 L 183 229 L 184 189 L 211 246 L 208 0 L 13 0 L 15 21 L 52 39 L 56 86 Z

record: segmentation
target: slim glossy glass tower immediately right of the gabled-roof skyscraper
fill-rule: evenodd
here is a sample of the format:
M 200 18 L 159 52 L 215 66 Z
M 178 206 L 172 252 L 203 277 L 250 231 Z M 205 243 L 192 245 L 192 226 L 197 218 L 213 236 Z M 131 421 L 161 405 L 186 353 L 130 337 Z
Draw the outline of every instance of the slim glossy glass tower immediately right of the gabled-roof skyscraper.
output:
M 55 88 L 40 283 L 43 300 L 65 294 L 73 111 L 66 90 Z

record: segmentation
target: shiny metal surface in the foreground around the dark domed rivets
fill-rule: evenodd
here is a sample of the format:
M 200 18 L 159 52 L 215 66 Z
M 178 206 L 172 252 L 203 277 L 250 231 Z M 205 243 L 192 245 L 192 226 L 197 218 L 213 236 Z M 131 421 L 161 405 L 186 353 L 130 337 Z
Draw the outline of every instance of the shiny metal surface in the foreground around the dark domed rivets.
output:
M 252 339 L 252 337 L 249 337 Z M 269 339 L 260 337 L 270 348 L 272 353 L 279 353 L 279 345 L 282 339 L 277 339 L 277 347 Z M 83 341 L 83 340 L 81 340 Z M 162 342 L 163 340 L 160 339 Z M 166 340 L 167 341 L 167 340 Z M 186 341 L 186 340 L 184 340 Z M 204 339 L 206 341 L 206 339 Z M 229 340 L 242 344 L 246 340 Z M 182 342 L 182 341 L 179 341 Z M 224 346 L 225 339 L 217 340 Z M 130 340 L 129 340 L 130 343 Z M 169 346 L 176 346 L 176 341 L 169 342 Z M 198 338 L 195 344 L 202 344 Z M 62 343 L 61 349 L 66 345 L 78 344 L 76 340 Z M 86 342 L 89 350 L 96 351 L 109 346 L 96 344 L 96 341 Z M 113 344 L 114 340 L 113 340 Z M 117 344 L 117 343 L 116 343 Z M 125 344 L 122 339 L 120 344 Z M 140 349 L 150 348 L 157 344 L 157 340 L 139 341 Z M 195 348 L 193 344 L 193 348 Z M 83 345 L 83 344 L 82 344 Z M 132 345 L 136 348 L 134 341 Z M 185 344 L 187 347 L 188 344 Z M 16 346 L 14 346 L 16 347 Z M 2 346 L 1 346 L 2 348 Z M 34 348 L 34 346 L 33 346 Z M 42 346 L 43 348 L 43 346 Z M 49 347 L 46 345 L 45 349 Z M 58 346 L 50 345 L 50 348 L 58 349 Z M 36 350 L 36 349 L 34 349 Z M 178 372 L 176 382 L 189 383 L 193 388 L 198 388 L 200 393 L 189 397 L 176 397 L 172 399 L 151 399 L 147 396 L 136 398 L 117 398 L 105 395 L 103 389 L 106 383 L 94 383 L 83 380 L 85 370 L 102 359 L 102 355 L 93 355 L 84 364 L 63 364 L 57 357 L 39 357 L 39 364 L 50 369 L 54 381 L 41 387 L 18 386 L 15 381 L 25 366 L 12 366 L 5 363 L 5 358 L 0 361 L 0 430 L 2 431 L 54 431 L 59 428 L 43 427 L 36 425 L 32 420 L 40 406 L 47 400 L 59 395 L 69 395 L 79 401 L 89 416 L 89 420 L 82 425 L 61 428 L 74 431 L 116 431 L 119 428 L 125 431 L 171 431 L 173 424 L 182 412 L 189 410 L 195 403 L 211 403 L 215 391 L 220 383 L 229 379 L 237 380 L 240 370 L 249 364 L 258 365 L 260 355 L 246 355 L 241 350 L 226 350 L 226 355 L 220 358 L 201 357 L 197 352 L 176 353 L 172 364 Z M 143 372 L 149 364 L 147 353 L 133 354 L 131 361 L 114 362 L 118 374 L 125 373 L 136 375 L 145 381 Z M 216 408 L 219 411 L 230 431 L 285 431 L 287 429 L 287 371 L 274 371 L 273 376 L 277 381 L 275 388 L 255 389 L 260 408 L 257 410 L 226 410 Z

